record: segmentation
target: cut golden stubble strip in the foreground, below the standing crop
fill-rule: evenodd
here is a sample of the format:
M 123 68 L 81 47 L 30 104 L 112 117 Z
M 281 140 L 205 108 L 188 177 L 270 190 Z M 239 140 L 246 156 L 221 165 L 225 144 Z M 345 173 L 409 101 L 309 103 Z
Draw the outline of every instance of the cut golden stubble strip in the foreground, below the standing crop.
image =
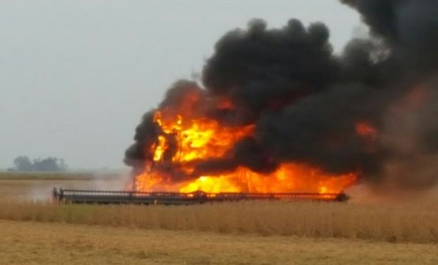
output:
M 0 221 L 0 264 L 437 264 L 437 245 Z

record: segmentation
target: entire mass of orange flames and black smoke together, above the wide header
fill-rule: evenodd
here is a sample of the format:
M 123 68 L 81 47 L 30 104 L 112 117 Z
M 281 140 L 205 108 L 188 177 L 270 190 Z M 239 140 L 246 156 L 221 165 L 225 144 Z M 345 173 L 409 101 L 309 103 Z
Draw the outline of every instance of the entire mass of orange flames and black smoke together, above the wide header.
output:
M 139 192 L 339 193 L 438 180 L 438 2 L 343 0 L 369 25 L 252 20 L 218 40 L 203 85 L 177 81 L 126 150 Z M 409 165 L 428 170 L 394 175 Z M 418 173 L 418 174 L 417 174 Z

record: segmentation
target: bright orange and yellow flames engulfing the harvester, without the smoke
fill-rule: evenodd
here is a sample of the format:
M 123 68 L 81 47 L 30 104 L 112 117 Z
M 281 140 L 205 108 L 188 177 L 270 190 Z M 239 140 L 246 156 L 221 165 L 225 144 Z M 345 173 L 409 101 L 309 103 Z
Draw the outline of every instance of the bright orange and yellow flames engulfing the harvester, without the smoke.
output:
M 196 175 L 193 163 L 222 158 L 237 141 L 252 136 L 255 126 L 225 126 L 215 119 L 199 117 L 193 112 L 197 104 L 199 95 L 188 93 L 177 110 L 155 110 L 153 122 L 160 127 L 160 134 L 149 147 L 150 160 L 146 161 L 143 172 L 136 176 L 137 191 L 324 194 L 342 192 L 357 180 L 357 172 L 333 175 L 318 167 L 301 163 L 283 163 L 266 174 L 239 166 L 232 172 Z M 215 106 L 218 109 L 233 107 L 228 100 L 218 100 Z M 357 126 L 358 134 L 372 134 L 372 129 L 365 124 Z M 171 149 L 173 151 L 169 152 Z M 169 167 L 177 168 L 177 171 L 169 170 Z M 175 172 L 185 177 L 175 177 Z

